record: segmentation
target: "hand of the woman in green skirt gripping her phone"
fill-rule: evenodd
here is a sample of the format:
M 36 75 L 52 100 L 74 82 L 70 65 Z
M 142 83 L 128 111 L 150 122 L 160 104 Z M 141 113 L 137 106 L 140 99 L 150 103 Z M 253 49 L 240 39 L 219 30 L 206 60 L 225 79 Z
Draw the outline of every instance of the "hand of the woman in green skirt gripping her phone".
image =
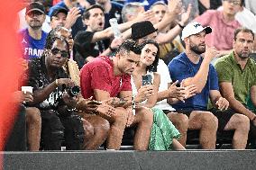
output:
M 152 94 L 154 94 L 154 85 L 142 85 L 138 90 L 138 94 L 135 96 L 135 102 L 141 103 L 147 100 Z

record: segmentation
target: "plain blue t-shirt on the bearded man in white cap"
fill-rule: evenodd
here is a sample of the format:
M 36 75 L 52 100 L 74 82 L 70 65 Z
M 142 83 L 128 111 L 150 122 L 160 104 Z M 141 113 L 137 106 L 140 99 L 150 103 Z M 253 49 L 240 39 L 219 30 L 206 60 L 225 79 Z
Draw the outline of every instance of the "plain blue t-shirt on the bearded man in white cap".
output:
M 202 64 L 202 61 L 203 58 L 200 57 L 200 61 L 195 64 L 191 62 L 189 58 L 187 58 L 185 52 L 179 54 L 176 58 L 173 58 L 168 65 L 169 75 L 172 81 L 175 82 L 176 80 L 178 80 L 178 82 L 180 83 L 183 79 L 196 76 L 197 71 Z M 185 103 L 178 102 L 176 104 L 173 104 L 172 106 L 176 110 L 185 109 L 206 111 L 210 90 L 219 90 L 218 76 L 215 67 L 211 64 L 209 66 L 209 73 L 206 85 L 203 88 L 202 92 L 185 100 Z

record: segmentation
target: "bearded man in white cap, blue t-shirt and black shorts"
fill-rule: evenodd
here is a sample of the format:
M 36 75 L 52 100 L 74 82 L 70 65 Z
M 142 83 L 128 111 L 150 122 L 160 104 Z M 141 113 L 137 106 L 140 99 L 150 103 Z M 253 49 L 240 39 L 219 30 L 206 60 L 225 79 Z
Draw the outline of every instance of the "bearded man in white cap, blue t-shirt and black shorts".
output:
M 233 148 L 244 149 L 250 127 L 249 119 L 228 109 L 228 101 L 219 92 L 218 77 L 210 62 L 218 54 L 214 47 L 206 49 L 206 34 L 211 27 L 202 27 L 199 22 L 190 22 L 182 31 L 185 52 L 169 63 L 169 74 L 181 85 L 197 85 L 197 94 L 172 106 L 177 112 L 187 115 L 188 129 L 200 130 L 202 148 L 215 148 L 216 130 L 234 130 Z M 205 53 L 204 57 L 201 54 Z M 207 110 L 208 99 L 215 106 Z M 217 118 L 217 119 L 216 119 Z

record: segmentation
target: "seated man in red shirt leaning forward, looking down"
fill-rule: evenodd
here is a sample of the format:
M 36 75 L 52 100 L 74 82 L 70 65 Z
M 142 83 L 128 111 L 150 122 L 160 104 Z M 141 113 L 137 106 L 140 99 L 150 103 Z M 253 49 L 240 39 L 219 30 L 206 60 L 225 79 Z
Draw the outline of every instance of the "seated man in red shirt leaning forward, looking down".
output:
M 114 114 L 102 114 L 111 123 L 107 139 L 108 149 L 120 149 L 125 127 L 137 124 L 134 149 L 147 150 L 151 136 L 153 116 L 146 108 L 136 108 L 133 114 L 131 74 L 140 61 L 141 50 L 133 40 L 124 41 L 116 50 L 114 58 L 100 57 L 88 62 L 80 72 L 81 89 L 85 98 L 97 101 L 127 99 L 124 105 L 117 105 Z M 136 97 L 134 103 L 141 102 Z

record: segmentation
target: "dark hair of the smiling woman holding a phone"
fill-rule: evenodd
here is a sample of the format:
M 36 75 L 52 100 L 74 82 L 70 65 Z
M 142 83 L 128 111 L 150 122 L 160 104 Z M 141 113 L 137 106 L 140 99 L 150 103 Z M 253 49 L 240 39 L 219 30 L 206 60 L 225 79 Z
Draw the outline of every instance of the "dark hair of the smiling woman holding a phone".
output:
M 145 40 L 142 42 L 141 49 L 143 49 L 147 44 L 154 45 L 158 49 L 158 51 L 154 62 L 151 64 L 151 66 L 146 67 L 146 70 L 150 72 L 157 72 L 160 58 L 160 46 L 155 40 Z

